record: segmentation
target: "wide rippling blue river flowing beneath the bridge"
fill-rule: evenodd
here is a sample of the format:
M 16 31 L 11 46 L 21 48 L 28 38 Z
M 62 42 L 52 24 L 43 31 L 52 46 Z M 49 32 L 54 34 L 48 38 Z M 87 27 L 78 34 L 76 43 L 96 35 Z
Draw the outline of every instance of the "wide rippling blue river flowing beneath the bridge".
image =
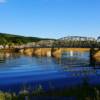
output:
M 0 53 L 0 90 L 19 92 L 100 84 L 100 69 L 90 66 L 89 52 L 64 52 L 60 59 Z

